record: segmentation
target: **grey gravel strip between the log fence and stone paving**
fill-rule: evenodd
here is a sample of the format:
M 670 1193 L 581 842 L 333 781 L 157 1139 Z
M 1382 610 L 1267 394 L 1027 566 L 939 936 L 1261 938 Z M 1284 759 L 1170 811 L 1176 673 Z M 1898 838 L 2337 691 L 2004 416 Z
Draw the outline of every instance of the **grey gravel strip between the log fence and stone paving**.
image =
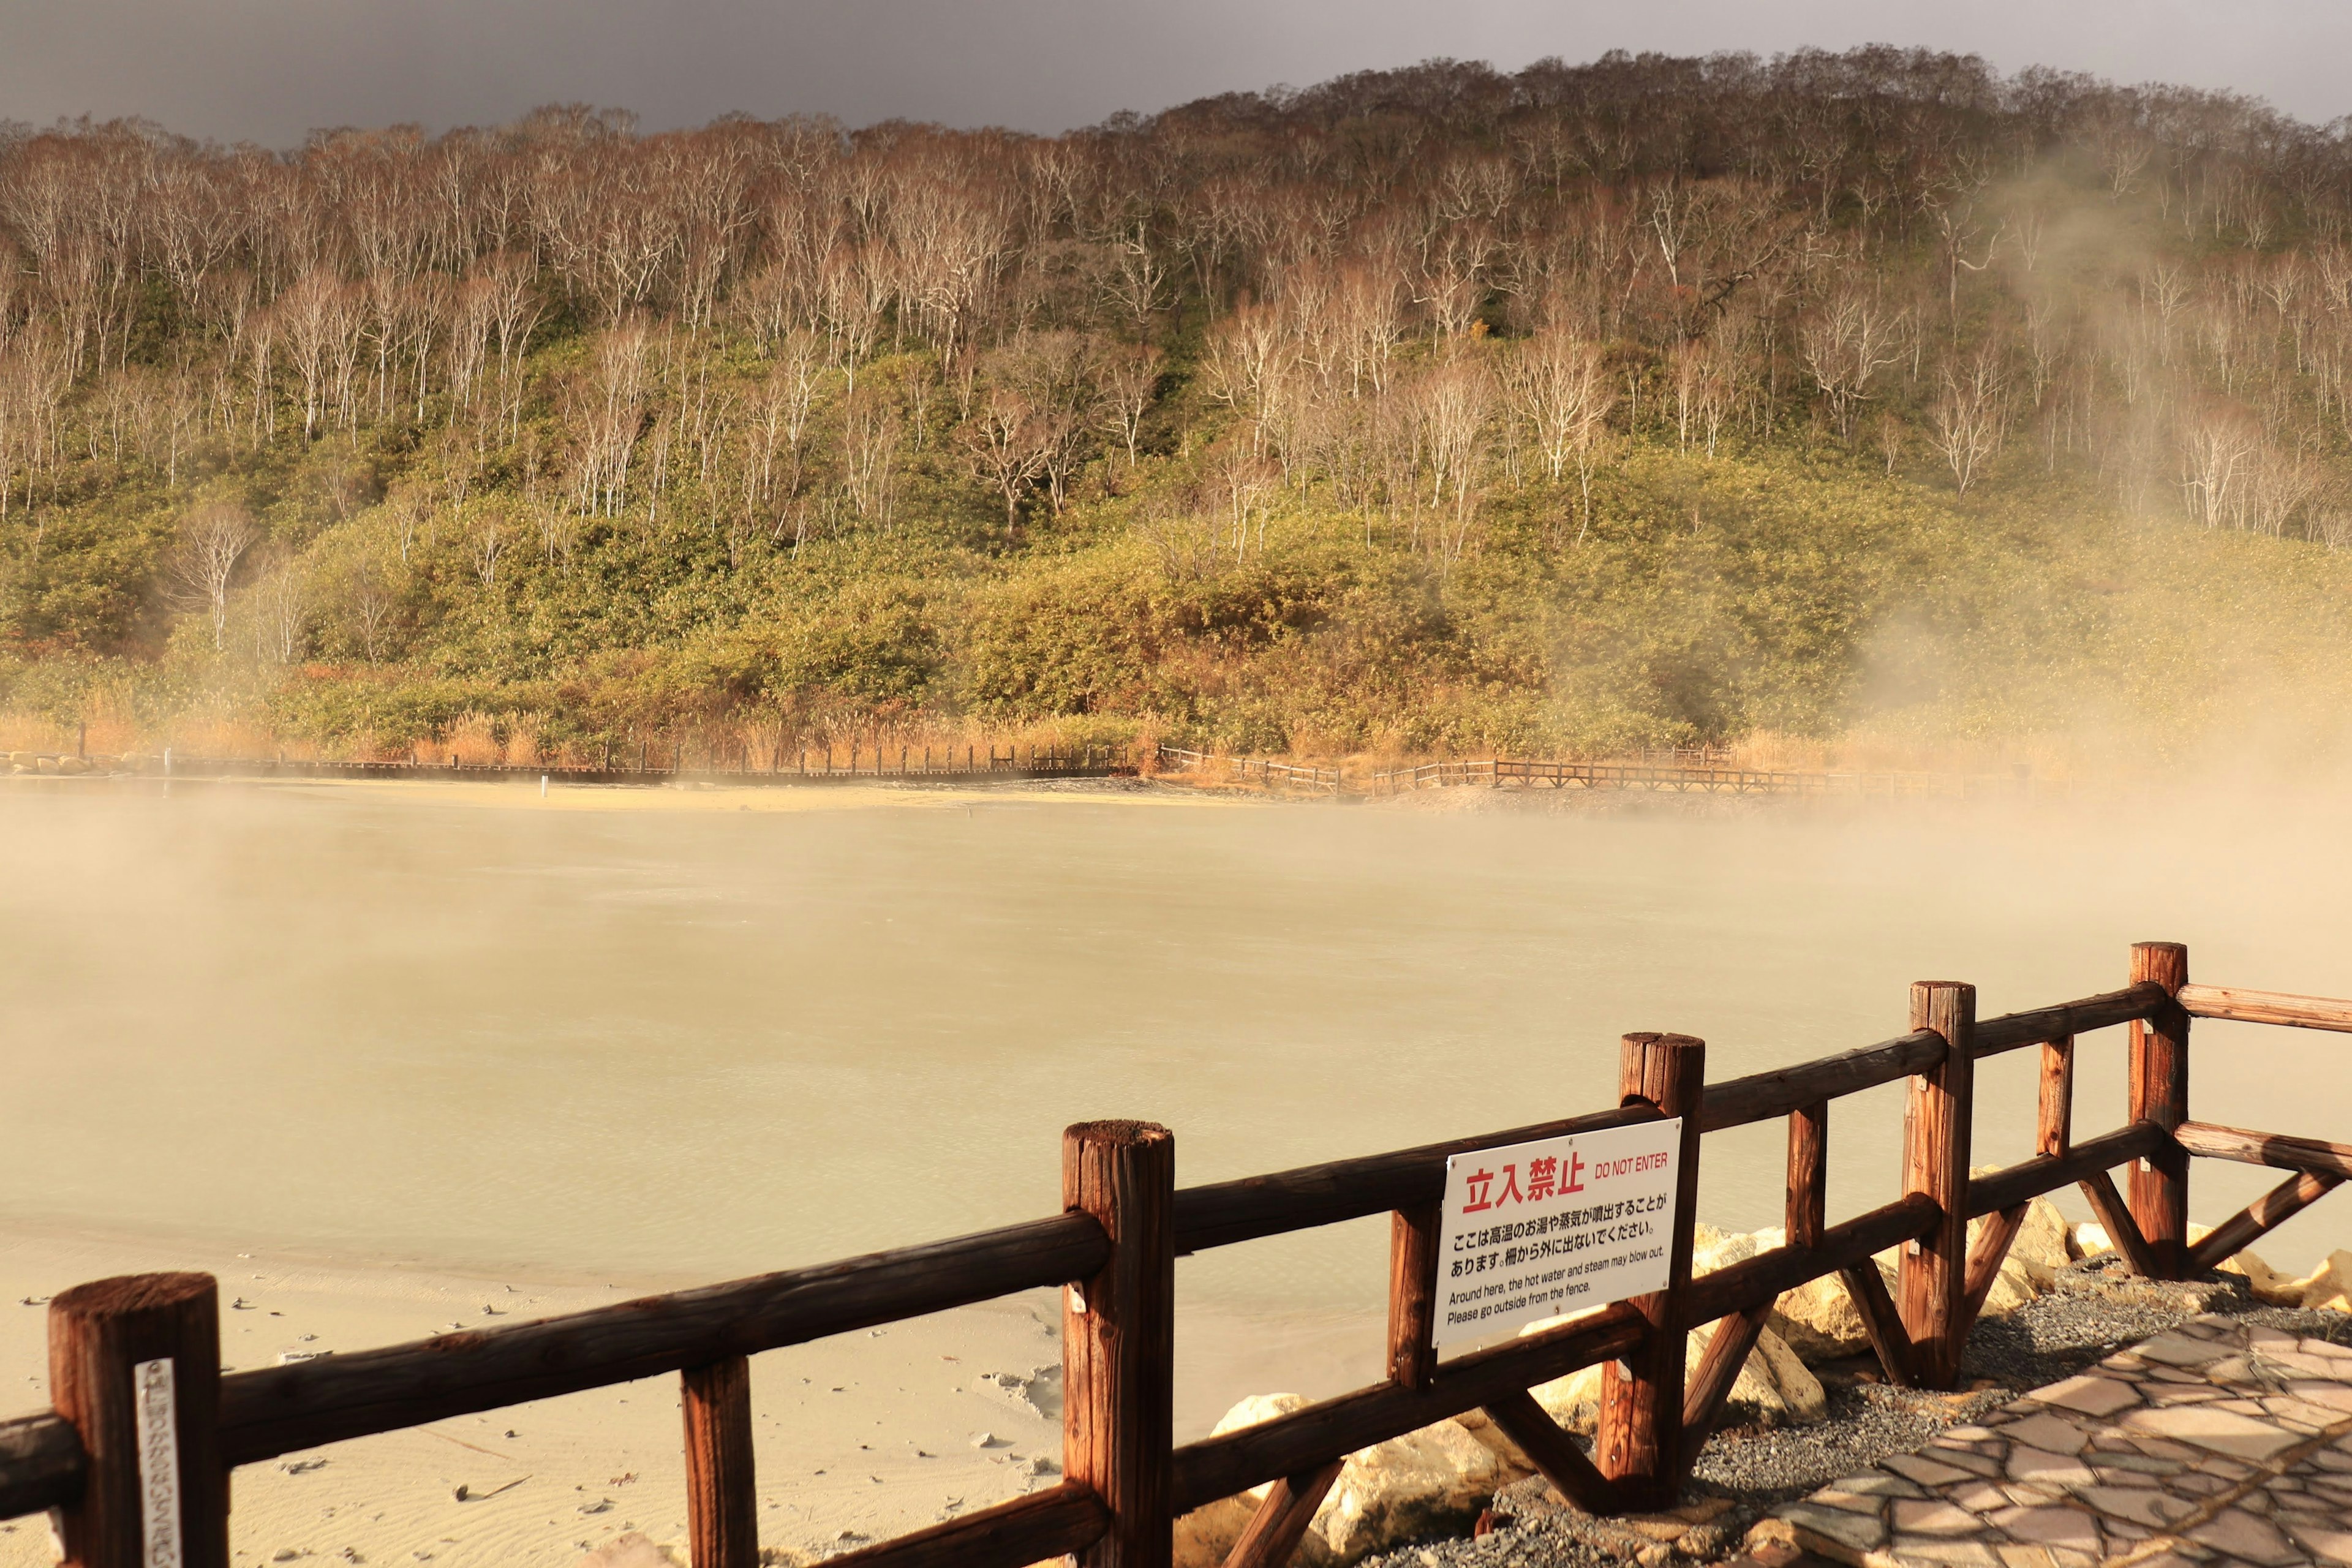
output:
M 2058 1288 L 1999 1319 L 1983 1319 L 1962 1361 L 1966 1387 L 1919 1394 L 1877 1380 L 1867 1356 L 1816 1368 L 1830 1420 L 1813 1427 L 1717 1432 L 1698 1458 L 1686 1502 L 1712 1519 L 1668 1544 L 1642 1526 L 1588 1519 L 1569 1509 L 1548 1481 L 1503 1488 L 1494 1514 L 1510 1519 L 1489 1535 L 1430 1540 L 1367 1559 L 1367 1568 L 1670 1568 L 1722 1561 L 1738 1552 L 1757 1519 L 1875 1460 L 1907 1453 L 1943 1427 L 1962 1425 L 2027 1389 L 2072 1378 L 2103 1356 L 2157 1335 L 2199 1312 L 2267 1324 L 2298 1335 L 2352 1342 L 2352 1316 L 2263 1307 L 2234 1274 L 2197 1284 L 2150 1284 L 2122 1276 L 2112 1258 L 2077 1262 Z M 1686 1512 L 1691 1512 L 1686 1509 Z

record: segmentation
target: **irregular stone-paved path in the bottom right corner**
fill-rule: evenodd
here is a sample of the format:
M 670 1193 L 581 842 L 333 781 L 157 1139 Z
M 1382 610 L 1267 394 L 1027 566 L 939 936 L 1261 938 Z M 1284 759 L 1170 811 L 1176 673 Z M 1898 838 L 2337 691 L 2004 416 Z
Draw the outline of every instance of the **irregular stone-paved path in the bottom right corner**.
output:
M 2199 1316 L 1750 1542 L 1860 1568 L 2352 1568 L 2352 1347 Z

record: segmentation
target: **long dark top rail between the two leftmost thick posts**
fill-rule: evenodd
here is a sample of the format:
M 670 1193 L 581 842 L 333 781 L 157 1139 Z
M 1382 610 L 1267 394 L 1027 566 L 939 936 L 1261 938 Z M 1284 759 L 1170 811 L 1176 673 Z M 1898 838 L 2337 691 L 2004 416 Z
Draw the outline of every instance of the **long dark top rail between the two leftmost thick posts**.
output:
M 1061 1286 L 1108 1258 L 1103 1227 L 1065 1213 L 536 1324 L 233 1373 L 221 1378 L 221 1448 L 230 1465 L 252 1465 Z

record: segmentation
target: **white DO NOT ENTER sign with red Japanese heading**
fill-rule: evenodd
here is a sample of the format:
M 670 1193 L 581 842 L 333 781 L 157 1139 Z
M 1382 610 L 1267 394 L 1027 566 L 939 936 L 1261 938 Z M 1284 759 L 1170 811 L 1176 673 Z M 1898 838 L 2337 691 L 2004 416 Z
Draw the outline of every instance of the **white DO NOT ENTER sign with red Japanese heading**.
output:
M 1437 1347 L 1665 1288 L 1682 1119 L 1446 1159 Z

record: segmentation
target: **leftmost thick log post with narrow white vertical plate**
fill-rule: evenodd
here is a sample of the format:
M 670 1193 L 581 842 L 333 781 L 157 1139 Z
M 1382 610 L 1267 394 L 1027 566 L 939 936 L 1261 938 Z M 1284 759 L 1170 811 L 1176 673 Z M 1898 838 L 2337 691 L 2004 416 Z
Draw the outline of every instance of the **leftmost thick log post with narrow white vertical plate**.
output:
M 61 1509 L 75 1568 L 228 1568 L 221 1293 L 212 1274 L 129 1274 L 49 1302 L 49 1389 L 89 1455 Z

